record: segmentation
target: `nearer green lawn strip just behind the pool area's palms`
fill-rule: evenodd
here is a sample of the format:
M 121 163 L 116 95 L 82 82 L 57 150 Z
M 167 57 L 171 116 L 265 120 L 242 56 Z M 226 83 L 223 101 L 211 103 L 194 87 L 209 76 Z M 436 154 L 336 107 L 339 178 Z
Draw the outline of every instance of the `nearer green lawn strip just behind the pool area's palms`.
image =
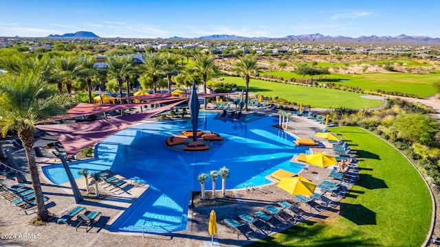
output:
M 245 89 L 243 78 L 224 76 L 224 83 L 237 84 L 241 89 Z M 364 99 L 360 93 L 340 91 L 336 89 L 325 89 L 309 86 L 298 86 L 277 82 L 267 82 L 263 80 L 251 79 L 249 82 L 250 93 L 261 93 L 265 97 L 277 95 L 278 98 L 287 99 L 289 102 L 296 102 L 304 105 L 310 104 L 317 108 L 346 108 L 360 109 L 380 106 L 382 100 Z

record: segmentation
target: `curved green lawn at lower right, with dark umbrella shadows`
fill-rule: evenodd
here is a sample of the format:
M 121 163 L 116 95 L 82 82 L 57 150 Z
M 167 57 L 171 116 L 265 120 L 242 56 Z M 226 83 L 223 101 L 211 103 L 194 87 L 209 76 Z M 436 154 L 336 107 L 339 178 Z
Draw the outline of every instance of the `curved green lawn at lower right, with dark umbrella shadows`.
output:
M 430 228 L 430 193 L 416 169 L 388 143 L 356 127 L 331 128 L 349 140 L 360 179 L 340 217 L 304 222 L 249 246 L 421 246 Z

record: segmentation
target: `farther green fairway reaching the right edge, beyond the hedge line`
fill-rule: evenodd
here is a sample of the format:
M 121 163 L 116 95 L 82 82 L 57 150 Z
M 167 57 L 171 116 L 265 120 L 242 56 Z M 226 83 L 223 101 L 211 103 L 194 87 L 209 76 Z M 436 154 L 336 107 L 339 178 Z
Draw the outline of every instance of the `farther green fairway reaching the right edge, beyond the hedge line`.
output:
M 289 78 L 302 78 L 302 76 L 288 71 L 272 71 L 267 72 L 267 74 L 281 76 L 285 80 Z M 375 91 L 376 89 L 381 89 L 384 91 L 414 93 L 419 95 L 419 97 L 429 97 L 436 93 L 436 89 L 434 89 L 432 84 L 439 81 L 439 71 L 424 74 L 398 72 L 362 74 L 331 73 L 330 75 L 323 75 L 322 78 L 346 80 L 336 83 L 346 86 L 359 86 L 362 90 Z

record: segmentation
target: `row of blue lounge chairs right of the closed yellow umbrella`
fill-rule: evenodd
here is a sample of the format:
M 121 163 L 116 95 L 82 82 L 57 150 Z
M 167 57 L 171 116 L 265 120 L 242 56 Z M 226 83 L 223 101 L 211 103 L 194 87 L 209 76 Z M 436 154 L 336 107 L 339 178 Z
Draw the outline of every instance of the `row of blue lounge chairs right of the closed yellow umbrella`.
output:
M 277 202 L 277 206 L 268 205 L 261 211 L 256 211 L 252 215 L 243 213 L 236 218 L 226 218 L 223 220 L 232 231 L 236 233 L 237 239 L 239 235 L 247 235 L 250 231 L 247 227 L 255 233 L 266 233 L 267 226 L 272 231 L 273 227 L 281 224 L 291 224 L 297 222 L 297 217 L 301 217 L 299 209 L 296 207 L 298 202 L 290 203 L 287 201 Z M 287 213 L 289 211 L 290 213 Z M 251 233 L 252 233 L 251 232 Z

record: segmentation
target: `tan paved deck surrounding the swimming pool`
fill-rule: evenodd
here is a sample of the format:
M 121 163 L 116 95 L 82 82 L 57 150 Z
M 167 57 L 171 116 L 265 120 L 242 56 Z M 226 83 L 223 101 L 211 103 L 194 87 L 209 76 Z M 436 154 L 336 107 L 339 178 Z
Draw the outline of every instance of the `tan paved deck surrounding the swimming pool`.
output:
M 261 110 L 259 108 L 252 108 L 251 111 L 256 111 L 265 114 L 274 114 L 276 111 Z M 305 117 L 293 116 L 289 123 L 288 132 L 292 132 L 297 137 L 307 138 L 314 137 L 315 130 L 322 129 L 324 126 L 318 124 L 315 121 L 307 119 Z M 327 154 L 333 154 L 331 145 L 323 139 L 317 139 L 320 141 L 320 146 L 312 147 L 312 152 L 325 152 Z M 8 141 L 3 141 L 3 148 L 14 148 L 14 146 Z M 328 147 L 328 148 L 327 148 Z M 39 161 L 45 161 L 46 163 L 55 163 L 54 156 L 48 156 L 41 158 Z M 17 162 L 25 172 L 28 168 L 25 164 L 24 152 L 17 152 L 14 154 L 17 157 Z M 294 157 L 292 157 L 294 158 Z M 320 183 L 322 180 L 327 179 L 330 169 L 324 169 L 316 167 L 314 165 L 308 165 L 307 171 L 303 170 L 300 175 L 305 176 L 314 183 Z M 42 183 L 42 189 L 45 196 L 50 200 L 47 202 L 47 207 L 51 213 L 55 215 L 61 215 L 63 212 L 73 209 L 77 206 L 75 204 L 72 190 L 69 183 L 63 185 L 53 185 L 49 180 L 46 180 L 43 172 L 39 169 L 40 178 Z M 29 176 L 26 175 L 28 180 Z M 318 200 L 316 208 L 307 207 L 305 204 L 300 204 L 302 220 L 309 220 L 311 222 L 320 222 L 325 219 L 338 217 L 339 207 L 327 207 L 327 204 L 334 204 L 343 198 L 348 189 L 351 188 L 355 179 L 358 177 L 358 169 L 356 164 L 351 168 L 347 179 L 344 180 L 344 189 L 337 194 L 325 193 L 323 200 Z M 122 177 L 121 177 L 122 178 Z M 208 234 L 208 219 L 209 213 L 212 208 L 203 209 L 189 209 L 188 211 L 188 230 L 179 233 L 172 233 L 170 235 L 153 235 L 146 234 L 144 237 L 142 234 L 132 233 L 112 233 L 106 230 L 111 223 L 127 209 L 131 203 L 133 203 L 140 194 L 142 194 L 148 185 L 133 185 L 131 181 L 126 178 L 128 183 L 121 190 L 116 193 L 109 194 L 111 196 L 105 197 L 104 200 L 93 202 L 85 200 L 81 202 L 83 207 L 87 208 L 87 211 L 100 211 L 102 216 L 93 224 L 91 230 L 86 233 L 85 228 L 79 228 L 78 232 L 75 231 L 77 224 L 76 217 L 74 222 L 68 224 L 66 227 L 63 224 L 56 224 L 56 220 L 48 223 L 45 226 L 32 226 L 28 224 L 35 214 L 23 215 L 18 213 L 14 207 L 10 207 L 9 204 L 0 203 L 0 233 L 15 234 L 12 238 L 2 239 L 2 244 L 5 243 L 8 246 L 210 246 L 210 235 Z M 91 181 L 89 181 L 90 183 Z M 274 180 L 276 182 L 276 180 Z M 12 185 L 15 182 L 13 177 L 1 177 L 0 183 L 5 185 Z M 85 189 L 84 178 L 78 178 L 78 187 L 82 190 Z M 94 187 L 91 183 L 91 187 Z M 319 191 L 317 189 L 317 191 Z M 231 228 L 226 226 L 222 220 L 225 218 L 234 218 L 241 213 L 251 214 L 255 211 L 262 210 L 263 207 L 268 204 L 276 206 L 276 202 L 281 200 L 288 200 L 293 202 L 292 196 L 276 187 L 276 183 L 271 185 L 264 185 L 261 187 L 255 187 L 247 189 L 234 190 L 234 194 L 239 201 L 236 204 L 230 204 L 227 206 L 217 207 L 214 210 L 217 213 L 218 233 L 214 236 L 214 239 L 220 243 L 221 246 L 243 246 L 254 242 L 256 239 L 272 235 L 276 232 L 283 231 L 286 228 L 292 227 L 293 224 L 276 224 L 272 230 L 267 229 L 263 234 L 250 234 L 248 236 L 237 235 Z M 281 223 L 281 222 L 278 222 Z M 72 227 L 73 226 L 73 227 Z M 3 235 L 2 235 L 3 237 Z M 209 243 L 209 244 L 208 244 Z M 0 244 L 1 245 L 1 244 Z

